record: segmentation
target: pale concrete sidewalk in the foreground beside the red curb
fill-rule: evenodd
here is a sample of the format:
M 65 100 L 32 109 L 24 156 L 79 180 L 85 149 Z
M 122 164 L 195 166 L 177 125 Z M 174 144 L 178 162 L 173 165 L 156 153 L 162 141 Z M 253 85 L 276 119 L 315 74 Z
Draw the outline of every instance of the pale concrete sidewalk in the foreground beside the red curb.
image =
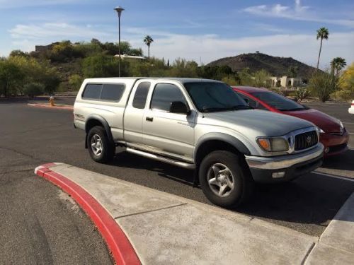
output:
M 350 264 L 354 261 L 353 215 L 344 227 L 342 223 L 331 223 L 319 241 L 317 237 L 257 218 L 78 167 L 57 164 L 50 170 L 82 187 L 108 211 L 125 232 L 142 264 L 323 264 L 329 261 Z M 354 196 L 351 197 L 354 201 Z M 353 202 L 346 207 L 338 217 L 341 220 L 350 207 L 353 209 Z M 346 232 L 338 237 L 338 229 L 343 228 Z M 324 252 L 333 257 L 327 258 Z

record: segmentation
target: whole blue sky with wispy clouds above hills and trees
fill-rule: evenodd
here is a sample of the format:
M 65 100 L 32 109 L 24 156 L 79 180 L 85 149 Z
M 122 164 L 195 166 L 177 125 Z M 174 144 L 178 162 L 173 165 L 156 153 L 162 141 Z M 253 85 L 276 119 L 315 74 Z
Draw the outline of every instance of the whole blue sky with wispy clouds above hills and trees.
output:
M 151 56 L 169 61 L 259 51 L 316 66 L 321 27 L 329 29 L 321 68 L 333 57 L 354 61 L 353 0 L 0 0 L 0 56 L 59 40 L 117 42 L 118 5 L 121 39 L 147 54 L 150 35 Z

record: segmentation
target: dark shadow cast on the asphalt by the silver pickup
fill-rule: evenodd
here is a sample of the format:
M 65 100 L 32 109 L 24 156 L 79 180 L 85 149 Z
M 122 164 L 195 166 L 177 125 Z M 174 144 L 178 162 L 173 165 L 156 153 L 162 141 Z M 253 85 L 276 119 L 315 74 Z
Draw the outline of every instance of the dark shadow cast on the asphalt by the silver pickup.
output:
M 157 172 L 160 177 L 188 186 L 193 185 L 192 170 L 173 167 L 130 153 L 118 153 L 111 165 L 149 170 Z M 263 219 L 279 220 L 278 223 L 319 225 L 322 227 L 319 228 L 321 231 L 316 233 L 311 230 L 309 234 L 320 235 L 352 192 L 354 182 L 311 173 L 293 182 L 258 184 L 251 201 L 234 211 Z

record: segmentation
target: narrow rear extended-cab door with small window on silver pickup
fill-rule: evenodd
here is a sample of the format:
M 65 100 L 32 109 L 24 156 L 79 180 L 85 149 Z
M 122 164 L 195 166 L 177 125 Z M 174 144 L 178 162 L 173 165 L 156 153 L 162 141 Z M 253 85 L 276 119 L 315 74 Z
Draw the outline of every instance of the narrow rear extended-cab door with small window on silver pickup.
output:
M 132 89 L 124 115 L 124 139 L 127 143 L 142 144 L 142 119 L 151 82 L 137 81 Z

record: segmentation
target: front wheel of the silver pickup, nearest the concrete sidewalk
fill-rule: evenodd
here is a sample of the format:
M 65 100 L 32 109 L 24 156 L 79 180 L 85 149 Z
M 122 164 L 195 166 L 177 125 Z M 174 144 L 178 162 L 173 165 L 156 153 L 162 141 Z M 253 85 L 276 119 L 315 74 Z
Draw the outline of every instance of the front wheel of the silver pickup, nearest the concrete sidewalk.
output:
M 253 191 L 253 179 L 246 162 L 229 151 L 214 151 L 200 163 L 202 192 L 213 204 L 234 208 Z

